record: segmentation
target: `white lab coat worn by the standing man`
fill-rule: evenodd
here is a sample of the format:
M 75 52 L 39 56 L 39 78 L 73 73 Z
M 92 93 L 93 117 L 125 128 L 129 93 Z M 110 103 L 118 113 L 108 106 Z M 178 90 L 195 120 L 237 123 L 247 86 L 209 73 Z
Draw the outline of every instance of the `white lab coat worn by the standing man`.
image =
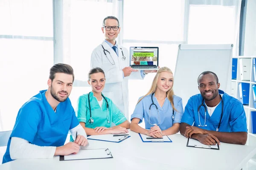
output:
M 110 56 L 109 53 L 105 51 L 108 58 L 103 52 L 102 45 L 105 50 L 108 50 L 111 54 Z M 103 69 L 105 72 L 106 84 L 102 93 L 106 97 L 110 98 L 117 106 L 117 108 L 119 108 L 120 111 L 125 114 L 125 117 L 129 119 L 128 79 L 143 78 L 141 77 L 140 71 L 132 72 L 130 76 L 123 78 L 122 69 L 130 66 L 130 55 L 126 48 L 119 44 L 117 47 L 119 57 L 116 55 L 116 52 L 113 50 L 113 48 L 111 48 L 107 42 L 103 41 L 102 44 L 97 46 L 92 52 L 91 68 L 100 67 Z M 122 51 L 125 56 L 125 60 L 122 59 Z M 111 63 L 115 64 L 112 65 Z

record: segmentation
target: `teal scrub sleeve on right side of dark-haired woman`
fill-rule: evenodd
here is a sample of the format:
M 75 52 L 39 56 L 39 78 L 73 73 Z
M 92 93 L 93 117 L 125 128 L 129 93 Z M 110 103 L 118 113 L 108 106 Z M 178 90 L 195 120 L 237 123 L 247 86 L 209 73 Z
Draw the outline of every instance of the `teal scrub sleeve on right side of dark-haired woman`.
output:
M 116 107 L 116 105 L 112 102 L 112 100 L 110 100 L 108 104 L 109 104 L 109 108 L 111 108 L 112 122 L 115 125 L 120 125 L 121 123 L 127 120 L 125 118 L 125 115 Z

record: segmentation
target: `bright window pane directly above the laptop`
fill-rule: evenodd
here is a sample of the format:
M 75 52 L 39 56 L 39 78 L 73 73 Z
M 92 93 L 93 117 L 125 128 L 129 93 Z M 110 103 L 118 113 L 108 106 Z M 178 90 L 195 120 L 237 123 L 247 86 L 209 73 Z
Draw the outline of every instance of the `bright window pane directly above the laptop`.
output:
M 124 39 L 183 41 L 183 19 L 184 0 L 125 0 Z

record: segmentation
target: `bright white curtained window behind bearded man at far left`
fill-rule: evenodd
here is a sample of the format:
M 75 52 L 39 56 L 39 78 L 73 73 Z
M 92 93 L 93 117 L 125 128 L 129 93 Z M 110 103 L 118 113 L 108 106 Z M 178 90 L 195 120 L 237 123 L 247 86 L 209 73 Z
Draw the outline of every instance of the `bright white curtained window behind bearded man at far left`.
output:
M 53 64 L 52 0 L 0 1 L 0 110 L 12 130 L 20 107 L 47 89 Z

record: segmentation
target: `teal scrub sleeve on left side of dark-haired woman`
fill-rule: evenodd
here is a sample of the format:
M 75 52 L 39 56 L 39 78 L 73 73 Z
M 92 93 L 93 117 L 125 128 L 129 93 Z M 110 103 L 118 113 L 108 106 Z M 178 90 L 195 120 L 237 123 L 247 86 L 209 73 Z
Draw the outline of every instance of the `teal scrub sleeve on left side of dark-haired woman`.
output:
M 86 123 L 86 112 L 87 112 L 87 99 L 86 96 L 80 96 L 77 100 L 76 115 L 79 122 Z

